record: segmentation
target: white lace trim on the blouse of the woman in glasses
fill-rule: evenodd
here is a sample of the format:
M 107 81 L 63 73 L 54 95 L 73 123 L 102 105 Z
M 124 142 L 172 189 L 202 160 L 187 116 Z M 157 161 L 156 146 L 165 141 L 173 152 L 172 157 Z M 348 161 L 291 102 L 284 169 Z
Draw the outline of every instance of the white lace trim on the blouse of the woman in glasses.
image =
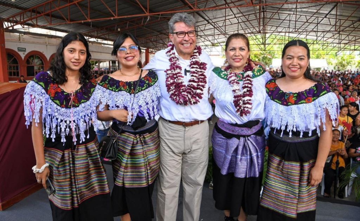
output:
M 135 100 L 134 94 L 129 94 L 126 91 L 114 92 L 100 85 L 96 86 L 95 94 L 100 99 L 99 111 L 104 110 L 105 104 L 109 105 L 110 110 L 123 109 L 126 107 L 129 112 L 127 118 L 127 124 L 129 125 L 135 121 L 140 109 L 143 111 L 145 119 L 150 121 L 156 116 L 158 107 L 160 107 L 158 98 L 161 96 L 161 92 L 158 81 L 150 86 L 150 88 L 136 93 Z M 134 103 L 132 103 L 132 100 L 134 100 Z M 131 116 L 134 117 L 131 119 Z

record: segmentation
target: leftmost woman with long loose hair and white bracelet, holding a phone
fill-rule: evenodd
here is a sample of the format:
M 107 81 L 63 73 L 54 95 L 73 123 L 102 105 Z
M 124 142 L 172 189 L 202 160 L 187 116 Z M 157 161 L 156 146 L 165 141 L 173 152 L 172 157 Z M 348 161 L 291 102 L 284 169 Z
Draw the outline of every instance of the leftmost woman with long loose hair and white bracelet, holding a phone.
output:
M 90 58 L 85 37 L 67 34 L 49 71 L 37 74 L 24 94 L 26 124 L 32 122 L 33 170 L 44 188 L 46 177 L 55 188 L 49 195 L 53 221 L 113 220 L 93 126 L 98 99 Z

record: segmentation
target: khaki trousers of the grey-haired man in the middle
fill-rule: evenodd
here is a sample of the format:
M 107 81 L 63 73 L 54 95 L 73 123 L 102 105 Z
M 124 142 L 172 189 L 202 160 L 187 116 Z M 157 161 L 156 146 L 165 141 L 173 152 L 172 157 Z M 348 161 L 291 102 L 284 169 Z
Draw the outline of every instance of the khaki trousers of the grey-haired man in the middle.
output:
M 198 221 L 209 151 L 207 121 L 184 127 L 160 118 L 160 172 L 157 221 L 176 221 L 180 178 L 183 178 L 183 220 Z

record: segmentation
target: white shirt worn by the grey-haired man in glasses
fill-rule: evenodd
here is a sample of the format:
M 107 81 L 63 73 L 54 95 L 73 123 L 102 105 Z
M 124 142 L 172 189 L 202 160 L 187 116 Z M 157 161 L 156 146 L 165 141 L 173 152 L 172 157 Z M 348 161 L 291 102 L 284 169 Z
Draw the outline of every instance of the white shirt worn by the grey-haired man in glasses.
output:
M 174 49 L 175 50 L 175 49 Z M 186 76 L 184 74 L 185 69 L 190 70 L 190 60 L 184 60 L 181 58 L 176 50 L 176 57 L 179 58 L 179 64 L 181 66 L 181 74 L 184 76 L 184 83 L 187 84 L 190 79 L 190 73 L 187 73 Z M 206 71 L 205 75 L 207 78 L 210 76 L 214 65 L 212 64 L 210 57 L 202 52 L 199 56 L 201 62 L 206 63 Z M 208 82 L 206 83 L 206 87 L 204 89 L 204 94 L 199 103 L 194 105 L 179 105 L 170 99 L 169 93 L 167 93 L 165 80 L 166 73 L 165 70 L 170 66 L 169 57 L 166 55 L 166 50 L 158 51 L 155 56 L 151 59 L 150 63 L 147 64 L 144 69 L 145 70 L 153 70 L 158 75 L 159 85 L 161 90 L 161 98 L 160 98 L 160 110 L 159 115 L 167 119 L 169 121 L 182 121 L 189 122 L 195 120 L 206 120 L 213 114 L 211 105 L 208 102 Z M 208 81 L 208 80 L 207 80 Z

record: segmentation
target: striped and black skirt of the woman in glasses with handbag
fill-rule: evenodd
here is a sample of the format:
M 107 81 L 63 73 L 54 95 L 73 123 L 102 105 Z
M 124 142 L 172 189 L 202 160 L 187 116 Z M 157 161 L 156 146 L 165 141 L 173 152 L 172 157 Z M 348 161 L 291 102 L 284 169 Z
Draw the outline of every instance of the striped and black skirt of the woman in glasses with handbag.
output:
M 157 121 L 149 121 L 136 131 L 131 126 L 123 127 L 120 134 L 115 131 L 117 126 L 113 124 L 109 134 L 118 141 L 117 158 L 112 161 L 114 216 L 130 213 L 132 221 L 151 221 L 151 196 L 160 164 Z

